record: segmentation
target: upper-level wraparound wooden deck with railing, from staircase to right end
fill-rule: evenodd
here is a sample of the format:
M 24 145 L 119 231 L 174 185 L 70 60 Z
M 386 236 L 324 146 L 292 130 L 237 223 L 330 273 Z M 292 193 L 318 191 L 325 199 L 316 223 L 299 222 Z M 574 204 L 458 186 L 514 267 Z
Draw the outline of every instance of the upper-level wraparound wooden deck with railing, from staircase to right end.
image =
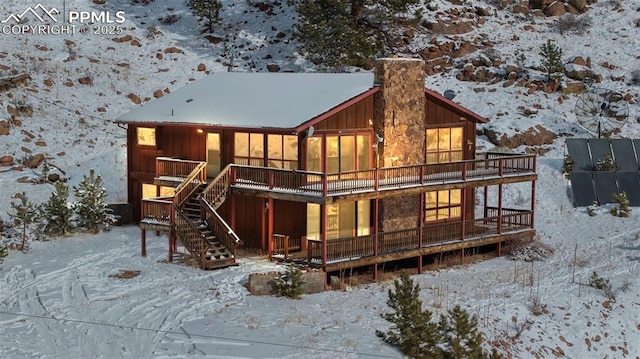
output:
M 535 160 L 535 155 L 486 155 L 469 161 L 338 174 L 231 165 L 230 186 L 234 192 L 245 195 L 328 204 L 423 193 L 426 190 L 535 181 Z

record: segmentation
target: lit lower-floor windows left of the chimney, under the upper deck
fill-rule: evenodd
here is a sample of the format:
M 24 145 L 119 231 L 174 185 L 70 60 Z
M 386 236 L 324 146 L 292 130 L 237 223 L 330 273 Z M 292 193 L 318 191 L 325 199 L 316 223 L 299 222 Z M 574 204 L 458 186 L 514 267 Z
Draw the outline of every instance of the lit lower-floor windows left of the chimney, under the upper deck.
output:
M 327 239 L 364 236 L 371 232 L 371 202 L 327 205 Z M 320 205 L 307 204 L 307 238 L 320 239 Z

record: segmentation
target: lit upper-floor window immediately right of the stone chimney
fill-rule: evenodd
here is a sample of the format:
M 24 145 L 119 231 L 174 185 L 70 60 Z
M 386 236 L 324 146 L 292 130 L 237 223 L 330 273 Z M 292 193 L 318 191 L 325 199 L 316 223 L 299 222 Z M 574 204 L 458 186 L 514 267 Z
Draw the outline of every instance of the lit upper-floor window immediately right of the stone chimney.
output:
M 462 127 L 427 129 L 427 163 L 462 161 Z

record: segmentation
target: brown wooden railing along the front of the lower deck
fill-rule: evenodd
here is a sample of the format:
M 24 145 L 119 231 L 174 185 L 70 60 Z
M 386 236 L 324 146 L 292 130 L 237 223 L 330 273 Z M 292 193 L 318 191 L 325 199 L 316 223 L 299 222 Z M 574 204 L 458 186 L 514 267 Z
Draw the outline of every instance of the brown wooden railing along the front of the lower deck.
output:
M 505 214 L 508 213 L 508 214 Z M 410 228 L 399 231 L 378 233 L 376 243 L 374 235 L 347 237 L 327 240 L 326 262 L 348 261 L 378 254 L 401 252 L 422 247 L 437 246 L 461 240 L 477 240 L 486 237 L 516 233 L 530 229 L 532 212 L 524 210 L 503 210 L 502 216 L 477 218 L 466 221 L 442 222 L 425 225 L 422 228 Z M 500 228 L 500 217 L 503 226 Z M 376 248 L 377 245 L 377 248 Z M 323 263 L 323 243 L 321 240 L 307 240 L 308 261 Z

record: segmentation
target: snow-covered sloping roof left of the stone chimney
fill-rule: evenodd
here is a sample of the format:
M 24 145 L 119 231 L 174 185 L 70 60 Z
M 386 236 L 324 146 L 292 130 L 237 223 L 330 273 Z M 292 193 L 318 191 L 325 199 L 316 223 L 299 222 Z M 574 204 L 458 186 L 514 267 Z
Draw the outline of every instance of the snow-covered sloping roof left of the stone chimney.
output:
M 219 72 L 116 119 L 119 123 L 296 128 L 374 88 L 373 73 Z

